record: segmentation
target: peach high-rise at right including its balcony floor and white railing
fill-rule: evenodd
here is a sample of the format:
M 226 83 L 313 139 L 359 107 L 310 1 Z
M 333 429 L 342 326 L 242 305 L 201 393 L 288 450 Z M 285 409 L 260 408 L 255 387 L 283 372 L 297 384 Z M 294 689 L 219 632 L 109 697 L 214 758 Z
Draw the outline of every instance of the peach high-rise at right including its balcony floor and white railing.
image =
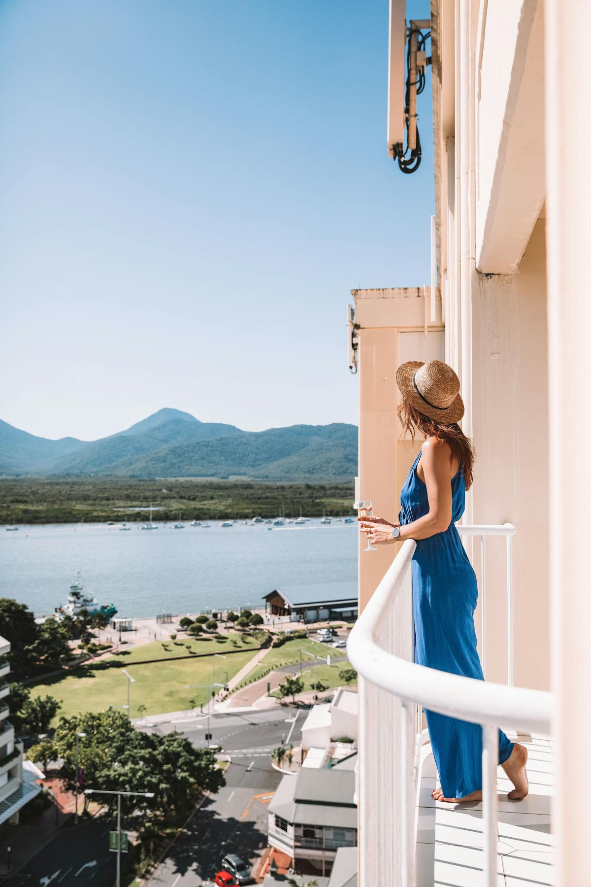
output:
M 360 545 L 348 653 L 360 672 L 361 887 L 384 883 L 384 871 L 393 887 L 591 883 L 581 780 L 591 726 L 591 113 L 585 52 L 572 41 L 589 23 L 582 0 L 432 0 L 430 20 L 411 27 L 431 31 L 430 50 L 409 60 L 432 59 L 432 109 L 420 96 L 417 105 L 419 126 L 433 118 L 434 271 L 426 289 L 393 280 L 353 291 L 359 491 L 375 514 L 395 516 L 415 456 L 399 440 L 395 369 L 446 360 L 477 451 L 460 529 L 478 576 L 486 685 L 413 663 L 413 543 L 373 554 Z M 394 155 L 408 138 L 408 25 L 404 0 L 391 0 Z M 483 726 L 483 804 L 430 804 L 436 773 L 419 705 Z M 517 804 L 496 771 L 498 726 L 530 750 L 531 792 Z

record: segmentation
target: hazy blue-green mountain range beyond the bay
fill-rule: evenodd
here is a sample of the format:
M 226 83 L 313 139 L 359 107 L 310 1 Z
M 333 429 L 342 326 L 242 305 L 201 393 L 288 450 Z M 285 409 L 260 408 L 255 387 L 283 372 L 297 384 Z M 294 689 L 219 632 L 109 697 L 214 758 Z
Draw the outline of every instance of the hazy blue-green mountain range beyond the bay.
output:
M 0 420 L 0 475 L 249 477 L 285 482 L 351 480 L 354 425 L 292 425 L 243 431 L 166 407 L 96 441 L 49 440 Z

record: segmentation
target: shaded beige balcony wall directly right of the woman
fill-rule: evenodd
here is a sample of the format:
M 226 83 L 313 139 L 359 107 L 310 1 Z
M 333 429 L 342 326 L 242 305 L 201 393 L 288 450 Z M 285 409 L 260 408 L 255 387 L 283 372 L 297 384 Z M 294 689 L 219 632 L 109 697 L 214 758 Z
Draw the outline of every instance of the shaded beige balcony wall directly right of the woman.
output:
M 549 687 L 548 327 L 545 219 L 515 275 L 472 293 L 472 522 L 517 527 L 513 540 L 515 683 Z M 565 434 L 567 434 L 565 429 Z M 473 561 L 479 576 L 479 546 Z M 507 679 L 505 549 L 486 552 L 486 678 Z M 476 617 L 479 633 L 480 616 Z

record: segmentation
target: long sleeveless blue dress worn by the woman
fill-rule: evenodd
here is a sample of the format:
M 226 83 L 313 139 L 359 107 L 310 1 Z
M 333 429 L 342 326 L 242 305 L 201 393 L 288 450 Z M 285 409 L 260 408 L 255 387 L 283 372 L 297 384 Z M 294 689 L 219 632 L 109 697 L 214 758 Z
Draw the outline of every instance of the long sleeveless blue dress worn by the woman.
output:
M 429 511 L 427 488 L 416 474 L 420 458 L 421 453 L 400 491 L 400 524 L 416 521 Z M 465 505 L 462 471 L 451 483 L 452 522 L 445 532 L 416 541 L 412 561 L 415 662 L 483 680 L 474 630 L 476 574 L 455 529 Z M 482 728 L 433 711 L 425 710 L 425 715 L 444 797 L 464 797 L 482 789 Z M 512 750 L 513 743 L 499 730 L 499 764 Z

